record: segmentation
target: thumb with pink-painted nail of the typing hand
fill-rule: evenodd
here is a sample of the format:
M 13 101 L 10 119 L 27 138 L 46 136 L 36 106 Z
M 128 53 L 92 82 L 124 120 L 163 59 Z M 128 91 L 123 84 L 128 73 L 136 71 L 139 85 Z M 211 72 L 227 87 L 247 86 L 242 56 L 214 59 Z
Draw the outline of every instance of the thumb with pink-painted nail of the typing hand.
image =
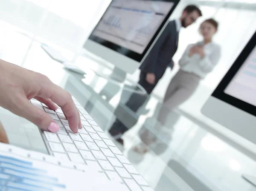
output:
M 22 105 L 22 108 L 18 107 L 18 109 L 20 108 L 20 111 L 17 111 L 20 117 L 24 117 L 43 130 L 51 131 L 53 133 L 58 132 L 59 126 L 46 112 L 44 112 L 40 102 L 37 101 L 38 105 L 33 105 L 26 99 L 22 102 L 23 103 L 20 104 Z

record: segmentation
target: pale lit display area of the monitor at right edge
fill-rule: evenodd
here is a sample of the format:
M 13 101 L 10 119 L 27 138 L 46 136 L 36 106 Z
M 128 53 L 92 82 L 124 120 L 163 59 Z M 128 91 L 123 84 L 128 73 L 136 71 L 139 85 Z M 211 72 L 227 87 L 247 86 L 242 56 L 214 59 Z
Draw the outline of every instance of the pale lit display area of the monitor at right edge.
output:
M 256 47 L 253 48 L 224 92 L 256 106 Z

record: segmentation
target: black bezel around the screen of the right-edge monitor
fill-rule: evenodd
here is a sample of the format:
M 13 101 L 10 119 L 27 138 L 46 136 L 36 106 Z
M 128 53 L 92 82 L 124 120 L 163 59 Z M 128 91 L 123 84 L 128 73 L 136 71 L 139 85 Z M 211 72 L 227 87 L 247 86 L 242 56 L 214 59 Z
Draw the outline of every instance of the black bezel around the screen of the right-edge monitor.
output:
M 212 93 L 213 97 L 219 100 L 222 100 L 230 105 L 233 105 L 234 107 L 239 108 L 249 114 L 252 114 L 253 116 L 256 116 L 256 106 L 251 105 L 250 103 L 244 102 L 242 100 L 239 100 L 236 97 L 230 96 L 226 94 L 224 91 L 229 85 L 229 83 L 231 82 L 231 80 L 235 77 L 236 73 L 239 71 L 244 61 L 253 51 L 253 48 L 255 48 L 255 45 L 256 45 L 256 31 L 254 32 L 253 36 L 251 37 L 247 45 L 241 51 L 236 61 L 230 67 L 227 74 L 221 80 L 221 82 L 219 83 L 215 91 Z

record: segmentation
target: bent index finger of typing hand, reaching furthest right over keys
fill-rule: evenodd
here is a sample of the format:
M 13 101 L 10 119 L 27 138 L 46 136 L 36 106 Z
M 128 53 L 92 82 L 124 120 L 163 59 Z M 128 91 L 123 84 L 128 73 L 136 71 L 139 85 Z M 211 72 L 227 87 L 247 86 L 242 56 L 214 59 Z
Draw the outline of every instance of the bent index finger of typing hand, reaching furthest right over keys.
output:
M 38 96 L 45 99 L 49 98 L 59 105 L 67 117 L 70 129 L 75 133 L 78 132 L 79 115 L 77 113 L 76 105 L 67 91 L 48 80 L 48 82 L 44 83 L 41 87 Z

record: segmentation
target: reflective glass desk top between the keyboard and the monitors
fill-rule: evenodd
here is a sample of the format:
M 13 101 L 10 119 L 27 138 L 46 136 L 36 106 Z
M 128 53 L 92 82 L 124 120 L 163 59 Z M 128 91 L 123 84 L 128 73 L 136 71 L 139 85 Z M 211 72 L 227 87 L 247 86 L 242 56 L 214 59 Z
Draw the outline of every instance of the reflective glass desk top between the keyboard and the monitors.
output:
M 100 66 L 86 57 L 80 57 L 76 64 L 86 76 L 62 68 L 35 42 L 23 67 L 47 75 L 69 91 L 109 137 L 108 130 L 116 119 L 127 126 L 129 131 L 121 137 L 124 145 L 112 139 L 156 191 L 256 191 L 241 178 L 244 173 L 255 174 L 255 161 L 175 112 L 169 115 L 168 127 L 155 131 L 161 103 L 145 94 L 136 79 L 129 80 L 116 68 Z M 126 105 L 134 93 L 148 100 L 137 112 Z M 155 135 L 160 146 L 149 145 L 148 151 L 140 154 L 134 147 L 143 145 L 144 130 Z

